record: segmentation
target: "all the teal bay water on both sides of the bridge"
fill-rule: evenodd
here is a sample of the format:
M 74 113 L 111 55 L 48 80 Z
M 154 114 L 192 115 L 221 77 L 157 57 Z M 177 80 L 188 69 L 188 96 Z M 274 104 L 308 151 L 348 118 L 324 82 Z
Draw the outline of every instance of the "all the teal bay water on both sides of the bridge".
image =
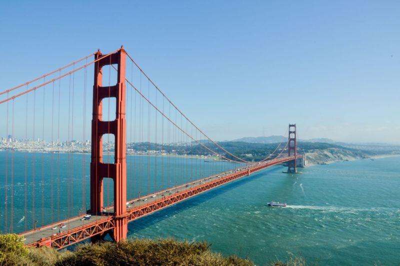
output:
M 24 216 L 25 155 L 27 215 Z M 8 156 L 8 164 L 5 164 Z M 88 205 L 89 155 L 35 154 L 35 216 L 32 216 L 32 154 L 13 153 L 13 232 L 78 214 L 85 192 Z M 148 159 L 148 160 L 147 160 Z M 51 160 L 53 166 L 51 167 Z M 157 160 L 157 178 L 154 179 Z M 132 156 L 128 163 L 128 195 L 146 194 L 159 186 L 236 167 L 187 158 Z M 42 168 L 42 162 L 44 167 Z M 59 162 L 59 211 L 56 210 Z M 72 169 L 71 169 L 72 162 Z M 162 164 L 169 164 L 168 173 Z M 135 171 L 132 171 L 134 165 Z M 5 167 L 7 172 L 7 230 L 10 227 L 10 154 L 0 152 L 0 230 L 5 225 Z M 150 167 L 148 167 L 150 166 Z M 199 168 L 207 169 L 199 172 Z M 52 170 L 51 170 L 52 169 Z M 69 169 L 69 170 L 68 170 Z M 163 170 L 162 170 L 163 169 Z M 197 170 L 196 170 L 197 169 Z M 84 171 L 83 171 L 84 170 Z M 202 241 L 223 255 L 249 258 L 256 265 L 301 256 L 318 265 L 398 265 L 400 263 L 400 157 L 317 165 L 284 174 L 275 166 L 198 195 L 128 224 L 128 238 Z M 69 178 L 68 178 L 69 176 Z M 132 179 L 135 182 L 132 182 Z M 43 180 L 43 182 L 42 182 Z M 50 195 L 53 180 L 53 211 Z M 85 180 L 85 187 L 82 186 Z M 154 180 L 156 184 L 154 184 Z M 149 182 L 149 183 L 148 183 Z M 67 197 L 69 188 L 73 188 Z M 147 186 L 148 184 L 148 186 Z M 111 185 L 109 184 L 109 187 Z M 84 189 L 83 189 L 84 188 Z M 104 183 L 104 202 L 107 196 Z M 41 205 L 41 191 L 44 193 Z M 111 189 L 112 191 L 112 189 Z M 142 194 L 141 194 L 142 195 Z M 108 198 L 108 199 L 107 199 Z M 267 207 L 268 201 L 286 208 Z M 68 203 L 69 201 L 69 203 Z M 68 204 L 73 205 L 68 213 Z M 42 208 L 43 207 L 43 208 Z

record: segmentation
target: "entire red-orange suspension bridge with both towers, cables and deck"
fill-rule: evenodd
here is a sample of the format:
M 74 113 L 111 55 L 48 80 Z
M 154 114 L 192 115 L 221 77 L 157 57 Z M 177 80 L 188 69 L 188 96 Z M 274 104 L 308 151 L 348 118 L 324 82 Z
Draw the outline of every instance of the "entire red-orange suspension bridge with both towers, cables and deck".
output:
M 230 153 L 123 47 L 98 50 L 0 97 L 0 225 L 30 247 L 62 249 L 107 235 L 121 241 L 135 219 L 267 167 L 285 163 L 296 173 L 302 160 L 295 124 L 287 142 L 258 162 Z

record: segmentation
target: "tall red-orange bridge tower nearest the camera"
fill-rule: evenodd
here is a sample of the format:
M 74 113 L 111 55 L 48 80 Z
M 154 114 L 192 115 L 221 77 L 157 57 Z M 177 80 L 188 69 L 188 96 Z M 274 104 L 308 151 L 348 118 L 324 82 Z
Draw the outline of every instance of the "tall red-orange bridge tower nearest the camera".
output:
M 113 181 L 115 223 L 113 232 L 108 233 L 115 241 L 126 239 L 126 121 L 125 121 L 125 57 L 123 48 L 110 56 L 102 57 L 100 51 L 95 53 L 94 85 L 93 85 L 93 116 L 91 120 L 91 162 L 90 162 L 90 211 L 99 215 L 104 209 L 103 179 Z M 102 86 L 102 67 L 117 65 L 117 81 L 112 86 Z M 102 120 L 102 100 L 114 97 L 115 120 Z M 103 162 L 102 137 L 104 134 L 114 135 L 114 162 Z M 105 233 L 105 234 L 106 234 Z M 102 239 L 102 236 L 92 237 L 92 241 Z

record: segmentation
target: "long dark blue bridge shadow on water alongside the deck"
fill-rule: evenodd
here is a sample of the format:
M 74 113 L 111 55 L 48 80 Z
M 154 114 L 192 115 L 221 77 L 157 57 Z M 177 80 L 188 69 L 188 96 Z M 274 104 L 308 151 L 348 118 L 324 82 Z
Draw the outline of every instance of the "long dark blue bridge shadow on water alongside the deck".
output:
M 265 174 L 275 172 L 277 169 L 280 169 L 280 167 L 279 168 L 272 167 L 269 169 L 265 169 L 261 172 L 255 173 L 253 175 L 250 175 L 248 177 L 244 178 L 242 177 L 238 180 L 222 185 L 221 187 L 211 189 L 210 191 L 201 193 L 197 196 L 194 196 L 182 202 L 171 205 L 165 209 L 162 209 L 160 211 L 157 211 L 155 213 L 149 214 L 135 221 L 132 221 L 128 224 L 128 238 L 130 235 L 134 234 L 137 231 L 140 231 L 148 226 L 161 222 L 162 220 L 167 219 L 175 215 L 176 213 L 180 213 L 182 211 L 195 207 L 227 191 L 236 189 L 244 184 L 247 184 L 248 182 L 259 179 L 265 176 Z

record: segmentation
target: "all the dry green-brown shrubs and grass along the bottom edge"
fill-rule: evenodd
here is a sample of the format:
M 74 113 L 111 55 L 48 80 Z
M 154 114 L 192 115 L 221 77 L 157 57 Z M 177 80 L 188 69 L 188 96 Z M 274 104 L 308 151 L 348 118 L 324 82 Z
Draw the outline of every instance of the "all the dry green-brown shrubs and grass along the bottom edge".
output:
M 252 266 L 247 259 L 223 257 L 206 242 L 174 239 L 129 240 L 121 243 L 82 244 L 75 251 L 48 247 L 26 248 L 15 234 L 0 235 L 0 266 Z M 305 266 L 302 259 L 274 262 L 272 266 Z

